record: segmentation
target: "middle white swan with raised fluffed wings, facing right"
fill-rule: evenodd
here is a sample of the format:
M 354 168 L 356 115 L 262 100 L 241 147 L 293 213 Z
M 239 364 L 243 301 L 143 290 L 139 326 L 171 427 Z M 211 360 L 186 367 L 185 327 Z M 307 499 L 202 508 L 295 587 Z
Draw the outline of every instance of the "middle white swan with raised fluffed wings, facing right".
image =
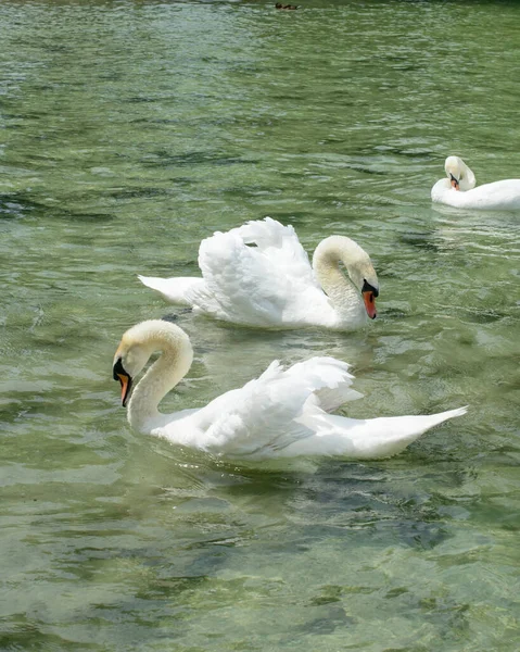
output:
M 377 314 L 376 271 L 344 236 L 322 240 L 312 267 L 293 227 L 266 217 L 202 240 L 199 266 L 202 278 L 139 279 L 166 301 L 246 326 L 348 330 Z

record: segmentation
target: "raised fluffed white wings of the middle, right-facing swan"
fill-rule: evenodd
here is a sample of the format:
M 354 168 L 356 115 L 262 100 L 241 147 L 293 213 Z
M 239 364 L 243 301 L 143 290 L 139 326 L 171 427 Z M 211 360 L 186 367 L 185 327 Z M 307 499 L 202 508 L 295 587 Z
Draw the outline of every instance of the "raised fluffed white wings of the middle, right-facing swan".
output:
M 333 311 L 292 226 L 269 217 L 203 240 L 199 266 L 205 286 L 190 301 L 217 318 L 283 326 Z

